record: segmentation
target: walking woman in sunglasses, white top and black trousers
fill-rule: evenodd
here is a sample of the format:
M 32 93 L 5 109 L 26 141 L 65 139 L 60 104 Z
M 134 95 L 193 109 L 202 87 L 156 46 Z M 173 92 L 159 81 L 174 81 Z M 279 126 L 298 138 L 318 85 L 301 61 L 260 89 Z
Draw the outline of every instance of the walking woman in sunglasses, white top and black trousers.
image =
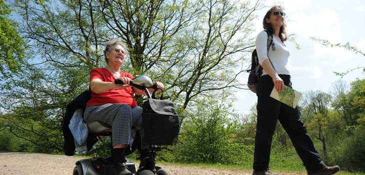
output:
M 339 166 L 326 166 L 315 149 L 301 121 L 298 107 L 292 108 L 271 98 L 274 87 L 277 91 L 284 85 L 291 87 L 290 71 L 287 66 L 289 50 L 286 48 L 285 12 L 279 5 L 272 6 L 263 18 L 266 31 L 258 33 L 256 51 L 263 70 L 257 85 L 257 126 L 254 147 L 253 175 L 273 175 L 268 169 L 272 135 L 277 120 L 289 135 L 308 175 L 330 175 L 339 171 Z M 267 48 L 268 34 L 272 44 Z M 273 47 L 272 49 L 271 47 Z

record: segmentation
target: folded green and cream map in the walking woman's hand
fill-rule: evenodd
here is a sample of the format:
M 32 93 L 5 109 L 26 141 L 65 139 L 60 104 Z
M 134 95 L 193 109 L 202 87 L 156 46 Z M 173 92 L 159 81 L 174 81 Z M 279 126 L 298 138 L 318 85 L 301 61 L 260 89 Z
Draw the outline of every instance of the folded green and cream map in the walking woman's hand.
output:
M 298 104 L 301 93 L 285 85 L 284 90 L 281 90 L 280 93 L 278 93 L 275 87 L 273 87 L 270 96 L 292 108 L 295 108 Z

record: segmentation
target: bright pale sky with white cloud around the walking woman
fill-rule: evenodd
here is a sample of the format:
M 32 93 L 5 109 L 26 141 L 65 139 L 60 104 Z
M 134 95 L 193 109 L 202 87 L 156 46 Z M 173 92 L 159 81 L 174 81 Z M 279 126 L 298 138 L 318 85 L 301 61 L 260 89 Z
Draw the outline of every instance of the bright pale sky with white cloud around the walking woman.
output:
M 365 56 L 339 47 L 325 47 L 310 37 L 327 39 L 332 43 L 349 42 L 365 52 L 365 0 L 267 0 L 266 6 L 281 4 L 286 13 L 286 30 L 295 34 L 295 43 L 286 41 L 290 50 L 289 68 L 293 88 L 305 92 L 321 90 L 329 92 L 332 83 L 338 79 L 333 71 L 365 66 Z M 262 17 L 269 7 L 256 11 L 255 35 L 262 28 Z M 240 79 L 246 81 L 248 74 Z M 365 78 L 362 69 L 354 70 L 342 79 L 349 84 L 356 78 Z M 256 102 L 256 95 L 249 90 L 238 90 L 234 110 L 247 114 Z

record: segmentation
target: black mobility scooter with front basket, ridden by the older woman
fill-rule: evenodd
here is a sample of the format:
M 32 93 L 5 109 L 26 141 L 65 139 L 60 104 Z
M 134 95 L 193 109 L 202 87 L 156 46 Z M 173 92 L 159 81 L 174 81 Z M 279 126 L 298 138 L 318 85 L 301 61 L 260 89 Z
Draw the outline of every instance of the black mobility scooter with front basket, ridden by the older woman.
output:
M 114 83 L 122 84 L 122 81 L 116 79 Z M 155 98 L 154 92 L 151 95 L 147 89 L 154 88 L 156 90 L 156 87 L 152 87 L 152 80 L 148 76 L 136 76 L 132 79 L 130 85 L 143 89 L 149 100 Z M 162 95 L 160 99 L 154 100 L 163 100 Z M 176 143 L 182 118 L 181 115 L 177 115 L 174 112 L 146 113 L 143 108 L 144 138 L 149 144 L 148 156 L 141 157 L 142 160 L 139 168 L 136 168 L 135 164 L 126 158 L 125 163 L 133 175 L 171 175 L 169 170 L 155 166 L 155 154 L 156 151 L 161 150 L 160 145 L 173 145 Z M 92 121 L 87 123 L 87 127 L 89 136 L 96 136 L 97 138 L 106 136 L 111 139 L 111 126 L 99 121 Z M 134 131 L 138 133 L 138 130 L 135 129 Z M 135 140 L 134 142 L 137 142 L 137 139 Z M 135 144 L 130 145 L 131 152 L 129 151 L 129 153 L 132 153 L 136 147 Z M 76 161 L 75 164 L 73 175 L 104 175 L 114 173 L 111 156 L 81 159 Z M 145 166 L 146 164 L 149 165 Z

